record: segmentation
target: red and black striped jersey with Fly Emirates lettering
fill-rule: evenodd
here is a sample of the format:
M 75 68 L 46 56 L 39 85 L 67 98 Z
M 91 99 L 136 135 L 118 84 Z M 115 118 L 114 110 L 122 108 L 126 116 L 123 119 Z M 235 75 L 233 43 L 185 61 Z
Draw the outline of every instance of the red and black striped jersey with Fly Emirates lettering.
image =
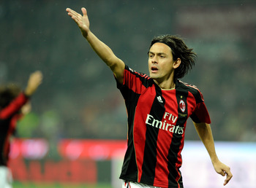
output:
M 117 84 L 128 115 L 127 152 L 120 179 L 155 187 L 183 187 L 181 150 L 187 119 L 211 123 L 203 95 L 179 80 L 161 90 L 146 74 L 124 70 Z

